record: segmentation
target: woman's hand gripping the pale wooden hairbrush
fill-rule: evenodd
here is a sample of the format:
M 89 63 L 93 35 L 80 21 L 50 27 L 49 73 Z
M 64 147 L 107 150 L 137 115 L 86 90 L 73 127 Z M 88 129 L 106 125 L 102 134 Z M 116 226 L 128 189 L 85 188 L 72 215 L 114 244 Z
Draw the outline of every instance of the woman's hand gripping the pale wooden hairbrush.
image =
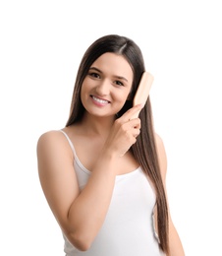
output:
M 123 157 L 125 153 L 137 142 L 140 132 L 140 119 L 133 118 L 142 108 L 142 105 L 133 106 L 120 118 L 116 119 L 111 132 L 105 142 L 104 150 L 116 157 Z

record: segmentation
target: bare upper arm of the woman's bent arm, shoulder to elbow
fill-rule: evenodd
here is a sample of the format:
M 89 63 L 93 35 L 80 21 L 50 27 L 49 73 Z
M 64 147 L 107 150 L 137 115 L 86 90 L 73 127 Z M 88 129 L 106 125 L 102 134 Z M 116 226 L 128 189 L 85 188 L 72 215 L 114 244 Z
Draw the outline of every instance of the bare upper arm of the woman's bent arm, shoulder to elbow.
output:
M 37 169 L 47 202 L 60 224 L 79 194 L 70 144 L 61 131 L 48 131 L 37 141 Z

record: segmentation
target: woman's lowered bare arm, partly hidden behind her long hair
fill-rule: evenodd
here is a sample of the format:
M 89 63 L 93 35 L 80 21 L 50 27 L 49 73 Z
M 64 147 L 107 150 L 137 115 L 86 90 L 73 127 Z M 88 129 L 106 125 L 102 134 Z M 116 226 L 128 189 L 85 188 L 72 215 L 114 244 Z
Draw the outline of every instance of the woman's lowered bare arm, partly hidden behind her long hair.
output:
M 164 144 L 158 135 L 156 135 L 156 145 L 157 145 L 161 175 L 163 179 L 165 193 L 167 195 L 167 191 L 166 191 L 167 158 L 166 158 Z M 168 204 L 168 209 L 169 209 L 169 204 Z M 169 245 L 170 245 L 169 256 L 185 256 L 183 245 L 179 237 L 179 234 L 172 222 L 170 211 L 169 211 Z

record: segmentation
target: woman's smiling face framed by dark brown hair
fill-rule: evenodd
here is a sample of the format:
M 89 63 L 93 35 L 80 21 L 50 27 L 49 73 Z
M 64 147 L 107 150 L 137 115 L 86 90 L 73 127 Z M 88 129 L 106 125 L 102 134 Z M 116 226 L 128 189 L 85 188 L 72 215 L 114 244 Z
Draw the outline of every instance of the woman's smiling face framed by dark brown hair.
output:
M 102 54 L 83 80 L 81 99 L 85 110 L 101 117 L 115 115 L 124 106 L 133 79 L 133 70 L 123 56 Z

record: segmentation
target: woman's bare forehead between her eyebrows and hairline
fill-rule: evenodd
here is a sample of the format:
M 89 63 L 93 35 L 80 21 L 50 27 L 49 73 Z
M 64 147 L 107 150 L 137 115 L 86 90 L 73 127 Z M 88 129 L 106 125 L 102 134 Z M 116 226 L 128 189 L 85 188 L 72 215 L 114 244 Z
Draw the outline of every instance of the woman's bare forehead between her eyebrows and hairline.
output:
M 133 70 L 129 62 L 125 57 L 116 53 L 106 52 L 102 54 L 92 63 L 91 67 L 96 67 L 102 72 L 133 78 Z

